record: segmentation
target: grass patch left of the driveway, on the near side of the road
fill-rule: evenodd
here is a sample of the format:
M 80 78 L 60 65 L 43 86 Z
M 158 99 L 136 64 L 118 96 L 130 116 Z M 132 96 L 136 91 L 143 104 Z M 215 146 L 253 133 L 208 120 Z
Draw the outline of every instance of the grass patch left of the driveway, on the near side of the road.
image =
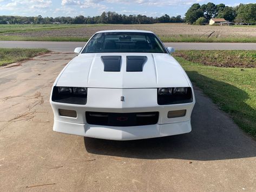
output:
M 24 61 L 31 57 L 49 52 L 47 49 L 9 49 L 0 48 L 0 66 L 18 61 Z

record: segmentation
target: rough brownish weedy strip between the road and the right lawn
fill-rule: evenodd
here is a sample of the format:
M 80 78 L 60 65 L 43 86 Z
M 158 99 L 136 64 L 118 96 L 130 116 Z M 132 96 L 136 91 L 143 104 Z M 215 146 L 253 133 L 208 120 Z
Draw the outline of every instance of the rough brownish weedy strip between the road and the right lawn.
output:
M 216 67 L 256 67 L 256 51 L 254 50 L 178 50 L 173 55 Z

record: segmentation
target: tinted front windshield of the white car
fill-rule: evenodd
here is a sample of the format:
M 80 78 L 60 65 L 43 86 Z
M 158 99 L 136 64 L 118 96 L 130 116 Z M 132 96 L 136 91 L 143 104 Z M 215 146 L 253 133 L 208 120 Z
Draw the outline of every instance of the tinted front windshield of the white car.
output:
M 159 39 L 146 32 L 102 32 L 95 34 L 82 54 L 90 52 L 160 52 L 166 53 Z

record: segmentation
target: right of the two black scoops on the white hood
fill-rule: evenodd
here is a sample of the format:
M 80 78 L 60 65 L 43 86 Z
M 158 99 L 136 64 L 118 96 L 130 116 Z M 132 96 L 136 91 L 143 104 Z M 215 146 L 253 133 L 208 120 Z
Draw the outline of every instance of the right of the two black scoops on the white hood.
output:
M 126 56 L 126 71 L 143 71 L 143 66 L 147 62 L 146 56 Z

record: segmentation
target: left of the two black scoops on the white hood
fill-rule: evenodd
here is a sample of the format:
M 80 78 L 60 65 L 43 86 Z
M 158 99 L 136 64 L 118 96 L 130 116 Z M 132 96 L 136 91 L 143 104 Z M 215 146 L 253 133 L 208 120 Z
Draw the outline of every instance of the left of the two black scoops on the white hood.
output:
M 121 56 L 101 56 L 101 61 L 104 64 L 104 71 L 121 70 Z

